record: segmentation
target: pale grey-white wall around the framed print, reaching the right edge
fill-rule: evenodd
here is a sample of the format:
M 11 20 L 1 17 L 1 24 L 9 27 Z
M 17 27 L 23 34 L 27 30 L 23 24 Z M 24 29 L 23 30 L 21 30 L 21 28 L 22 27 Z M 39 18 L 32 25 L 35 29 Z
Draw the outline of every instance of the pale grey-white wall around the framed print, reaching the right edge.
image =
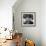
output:
M 46 0 L 23 0 L 19 3 L 13 6 L 15 29 L 23 32 L 25 38 L 33 39 L 37 46 L 46 46 Z M 36 12 L 36 27 L 21 27 L 23 11 Z

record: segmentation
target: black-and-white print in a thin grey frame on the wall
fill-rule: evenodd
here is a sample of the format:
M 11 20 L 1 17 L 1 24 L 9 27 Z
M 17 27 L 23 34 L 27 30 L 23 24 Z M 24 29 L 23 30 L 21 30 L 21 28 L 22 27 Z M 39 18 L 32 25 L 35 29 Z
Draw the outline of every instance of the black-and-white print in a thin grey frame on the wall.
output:
M 21 25 L 27 27 L 36 26 L 36 12 L 21 12 Z

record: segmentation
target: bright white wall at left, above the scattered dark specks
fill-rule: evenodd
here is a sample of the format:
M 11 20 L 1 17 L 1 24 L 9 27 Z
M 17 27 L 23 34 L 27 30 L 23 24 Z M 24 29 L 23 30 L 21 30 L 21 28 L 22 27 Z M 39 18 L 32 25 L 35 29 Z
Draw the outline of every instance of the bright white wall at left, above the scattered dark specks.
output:
M 16 0 L 0 0 L 0 27 L 12 28 L 12 6 Z

